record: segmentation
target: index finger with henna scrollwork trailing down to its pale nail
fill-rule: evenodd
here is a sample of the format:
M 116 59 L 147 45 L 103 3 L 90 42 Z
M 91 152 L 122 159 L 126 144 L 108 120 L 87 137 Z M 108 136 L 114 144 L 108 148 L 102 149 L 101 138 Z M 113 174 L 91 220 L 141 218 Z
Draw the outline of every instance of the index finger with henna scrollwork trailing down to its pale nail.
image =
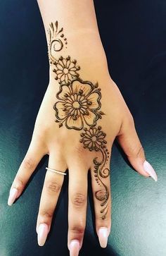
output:
M 96 233 L 102 248 L 106 248 L 111 226 L 110 166 L 91 166 L 91 186 L 94 197 Z M 96 166 L 97 167 L 97 166 Z

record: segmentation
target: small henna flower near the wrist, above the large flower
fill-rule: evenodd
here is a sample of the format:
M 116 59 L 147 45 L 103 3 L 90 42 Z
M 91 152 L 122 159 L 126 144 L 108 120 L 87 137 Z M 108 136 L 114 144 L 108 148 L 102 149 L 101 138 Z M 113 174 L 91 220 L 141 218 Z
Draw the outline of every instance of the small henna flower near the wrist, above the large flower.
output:
M 53 62 L 55 65 L 53 72 L 56 73 L 55 79 L 58 80 L 58 83 L 68 83 L 72 78 L 79 76 L 77 71 L 79 71 L 80 67 L 76 66 L 76 63 L 76 60 L 71 61 L 70 56 L 67 58 L 60 56 L 57 61 Z

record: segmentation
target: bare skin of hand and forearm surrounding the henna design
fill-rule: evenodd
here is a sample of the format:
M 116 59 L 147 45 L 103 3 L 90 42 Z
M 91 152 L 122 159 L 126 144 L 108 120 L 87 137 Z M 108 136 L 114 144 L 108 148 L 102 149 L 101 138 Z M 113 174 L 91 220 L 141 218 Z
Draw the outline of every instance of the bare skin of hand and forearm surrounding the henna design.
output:
M 106 54 L 101 44 L 96 25 L 93 1 L 38 1 L 46 39 L 48 43 L 49 63 L 53 61 L 49 51 L 48 29 L 51 22 L 55 23 L 54 16 L 59 18 L 60 28 L 64 29 L 66 38 L 63 48 L 56 52 L 56 59 L 60 56 L 64 58 L 68 55 L 71 59 L 77 59 L 80 66 L 79 77 L 84 81 L 98 83 L 101 88 L 101 111 L 102 118 L 98 118 L 94 127 L 101 129 L 106 133 L 106 149 L 108 149 L 108 159 L 104 168 L 110 169 L 111 148 L 116 138 L 122 149 L 127 154 L 129 162 L 134 169 L 141 175 L 148 177 L 149 174 L 143 171 L 143 162 L 146 157 L 143 147 L 136 133 L 134 119 L 130 113 L 120 90 L 110 77 Z M 68 7 L 68 8 L 67 8 Z M 56 11 L 58 10 L 58 11 Z M 73 23 L 72 13 L 79 13 L 77 22 Z M 86 13 L 87 18 L 84 18 Z M 87 20 L 89 20 L 87 22 Z M 68 21 L 68 23 L 67 23 Z M 89 25 L 90 24 L 90 25 Z M 77 29 L 79 28 L 79 30 Z M 78 39 L 79 38 L 79 39 Z M 88 54 L 87 54 L 88 53 Z M 97 53 L 97 54 L 96 54 Z M 69 129 L 66 126 L 59 127 L 56 122 L 56 111 L 53 106 L 58 102 L 58 92 L 60 83 L 56 78 L 55 66 L 50 63 L 50 79 L 44 99 L 41 102 L 30 147 L 25 154 L 25 158 L 20 164 L 11 188 L 18 189 L 17 197 L 22 194 L 27 181 L 39 164 L 39 161 L 45 154 L 49 155 L 49 167 L 59 171 L 68 169 L 69 173 L 69 204 L 68 204 L 68 247 L 71 240 L 79 240 L 80 248 L 84 238 L 84 228 L 86 225 L 87 212 L 87 174 L 91 172 L 91 185 L 94 195 L 94 209 L 96 217 L 96 233 L 101 227 L 107 227 L 108 233 L 111 228 L 111 191 L 110 191 L 110 173 L 106 178 L 101 178 L 104 183 L 103 188 L 108 190 L 107 211 L 101 212 L 101 200 L 96 197 L 98 183 L 94 176 L 94 159 L 102 160 L 102 154 L 99 150 L 88 150 L 84 148 L 84 140 L 80 142 L 80 134 L 85 130 Z M 84 126 L 88 127 L 88 126 Z M 105 149 L 105 150 L 106 150 Z M 62 188 L 64 176 L 51 171 L 46 171 L 44 186 L 41 193 L 39 204 L 39 213 L 37 217 L 37 227 L 44 223 L 51 228 L 53 213 L 56 209 L 60 189 Z M 101 194 L 102 195 L 102 194 Z

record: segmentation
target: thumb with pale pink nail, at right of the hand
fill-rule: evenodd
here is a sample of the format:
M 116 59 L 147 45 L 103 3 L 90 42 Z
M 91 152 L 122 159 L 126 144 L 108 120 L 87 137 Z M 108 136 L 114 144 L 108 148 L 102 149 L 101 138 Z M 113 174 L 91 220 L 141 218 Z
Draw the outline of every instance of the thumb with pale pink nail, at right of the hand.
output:
M 136 133 L 132 115 L 123 121 L 120 132 L 116 138 L 134 169 L 141 175 L 145 177 L 151 176 L 155 181 L 158 181 L 155 170 L 151 164 L 146 161 L 143 147 Z

